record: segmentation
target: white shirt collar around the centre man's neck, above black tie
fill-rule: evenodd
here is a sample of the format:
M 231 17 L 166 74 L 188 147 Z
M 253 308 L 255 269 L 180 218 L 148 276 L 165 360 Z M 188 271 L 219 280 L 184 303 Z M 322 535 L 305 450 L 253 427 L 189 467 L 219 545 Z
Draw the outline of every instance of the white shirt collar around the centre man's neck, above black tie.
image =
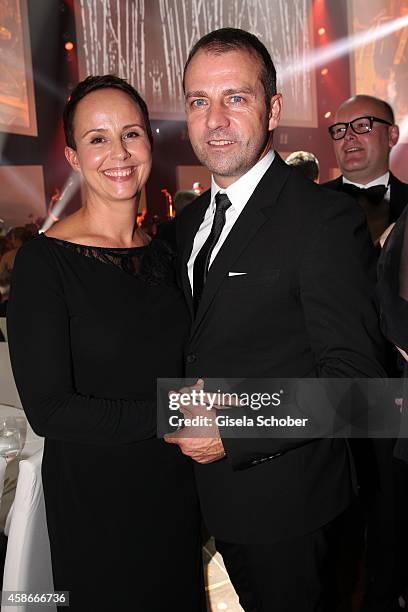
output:
M 255 166 L 252 166 L 250 170 L 240 176 L 239 179 L 227 187 L 227 189 L 222 189 L 219 187 L 214 180 L 214 176 L 212 176 L 210 200 L 211 213 L 215 212 L 215 196 L 218 192 L 226 193 L 229 201 L 231 202 L 231 209 L 234 209 L 240 213 L 274 159 L 275 151 L 270 149 L 268 153 L 255 164 Z

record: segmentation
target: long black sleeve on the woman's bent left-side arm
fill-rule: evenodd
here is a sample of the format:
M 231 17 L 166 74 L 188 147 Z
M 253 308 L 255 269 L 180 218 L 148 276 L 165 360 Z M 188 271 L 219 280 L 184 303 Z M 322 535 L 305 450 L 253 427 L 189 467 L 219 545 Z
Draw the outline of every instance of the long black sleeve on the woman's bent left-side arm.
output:
M 91 444 L 126 444 L 156 434 L 156 402 L 76 392 L 69 317 L 52 253 L 34 239 L 13 270 L 7 312 L 16 385 L 40 436 Z

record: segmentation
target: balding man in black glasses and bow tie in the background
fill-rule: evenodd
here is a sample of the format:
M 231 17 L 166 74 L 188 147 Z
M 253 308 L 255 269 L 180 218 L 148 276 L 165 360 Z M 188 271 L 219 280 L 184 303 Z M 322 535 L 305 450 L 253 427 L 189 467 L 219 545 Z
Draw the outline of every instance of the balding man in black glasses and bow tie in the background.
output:
M 393 110 L 379 98 L 353 96 L 340 105 L 329 134 L 342 176 L 324 186 L 358 201 L 376 243 L 408 203 L 408 185 L 389 170 L 390 152 L 399 137 Z

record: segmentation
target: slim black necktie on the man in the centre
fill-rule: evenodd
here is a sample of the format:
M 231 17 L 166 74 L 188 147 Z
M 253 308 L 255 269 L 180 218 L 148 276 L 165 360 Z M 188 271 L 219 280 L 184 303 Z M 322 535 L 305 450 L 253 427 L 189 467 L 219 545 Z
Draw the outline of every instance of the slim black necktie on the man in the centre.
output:
M 201 294 L 207 279 L 208 266 L 210 264 L 211 253 L 218 242 L 222 228 L 225 225 L 225 213 L 231 206 L 226 193 L 217 193 L 215 196 L 215 215 L 211 226 L 210 234 L 204 242 L 194 261 L 193 271 L 193 294 L 194 310 L 197 312 Z

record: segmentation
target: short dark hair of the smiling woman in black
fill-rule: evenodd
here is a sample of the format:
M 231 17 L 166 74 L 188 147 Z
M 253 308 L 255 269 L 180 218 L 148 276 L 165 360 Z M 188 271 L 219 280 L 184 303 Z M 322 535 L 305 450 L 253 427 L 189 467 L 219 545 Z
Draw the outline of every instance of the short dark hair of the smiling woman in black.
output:
M 147 136 L 150 141 L 150 145 L 153 146 L 153 134 L 149 120 L 149 111 L 147 110 L 146 102 L 137 93 L 136 89 L 130 85 L 124 79 L 121 79 L 114 74 L 105 74 L 103 76 L 89 76 L 75 87 L 71 92 L 68 102 L 64 108 L 64 133 L 65 142 L 71 149 L 76 149 L 74 139 L 74 117 L 75 111 L 78 106 L 78 102 L 85 98 L 92 91 L 98 89 L 119 89 L 127 94 L 132 100 L 139 106 L 142 111 L 143 121 L 145 123 Z

